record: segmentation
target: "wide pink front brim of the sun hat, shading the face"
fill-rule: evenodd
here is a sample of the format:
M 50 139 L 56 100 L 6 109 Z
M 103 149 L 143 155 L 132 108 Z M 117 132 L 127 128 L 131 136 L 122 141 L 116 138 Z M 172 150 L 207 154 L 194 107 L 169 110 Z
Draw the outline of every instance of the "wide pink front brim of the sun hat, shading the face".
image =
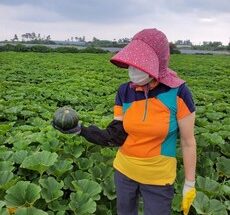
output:
M 141 40 L 132 40 L 114 55 L 111 63 L 121 68 L 136 67 L 154 78 L 159 75 L 159 60 L 153 49 Z

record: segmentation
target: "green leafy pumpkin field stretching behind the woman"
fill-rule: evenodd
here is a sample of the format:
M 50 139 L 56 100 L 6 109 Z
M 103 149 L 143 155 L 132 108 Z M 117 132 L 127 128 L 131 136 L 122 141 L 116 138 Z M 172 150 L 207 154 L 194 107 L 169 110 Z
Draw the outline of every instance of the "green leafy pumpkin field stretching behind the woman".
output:
M 106 54 L 0 53 L 0 215 L 115 215 L 117 148 L 55 130 L 59 107 L 105 128 L 126 70 Z M 230 57 L 172 55 L 196 104 L 197 197 L 190 215 L 230 213 Z M 182 214 L 180 144 L 172 214 Z M 139 211 L 143 203 L 140 199 Z

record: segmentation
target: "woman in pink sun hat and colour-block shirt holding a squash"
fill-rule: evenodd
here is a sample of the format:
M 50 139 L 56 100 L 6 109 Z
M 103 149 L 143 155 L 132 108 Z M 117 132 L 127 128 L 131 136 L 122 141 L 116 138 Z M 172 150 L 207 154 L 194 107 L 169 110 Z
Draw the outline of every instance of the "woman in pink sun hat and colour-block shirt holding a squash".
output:
M 185 173 L 182 207 L 188 214 L 195 198 L 195 106 L 185 81 L 168 68 L 166 36 L 157 29 L 142 30 L 111 62 L 127 69 L 130 77 L 117 92 L 114 120 L 105 130 L 79 125 L 64 133 L 119 146 L 113 163 L 118 215 L 137 215 L 139 196 L 145 215 L 170 214 L 179 133 Z

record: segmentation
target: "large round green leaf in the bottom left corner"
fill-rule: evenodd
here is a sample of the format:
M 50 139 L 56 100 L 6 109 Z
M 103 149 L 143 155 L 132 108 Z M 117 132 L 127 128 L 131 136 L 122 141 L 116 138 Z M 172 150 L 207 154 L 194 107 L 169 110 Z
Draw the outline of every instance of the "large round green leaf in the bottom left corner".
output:
M 8 207 L 31 207 L 40 198 L 41 188 L 29 181 L 19 181 L 6 191 Z

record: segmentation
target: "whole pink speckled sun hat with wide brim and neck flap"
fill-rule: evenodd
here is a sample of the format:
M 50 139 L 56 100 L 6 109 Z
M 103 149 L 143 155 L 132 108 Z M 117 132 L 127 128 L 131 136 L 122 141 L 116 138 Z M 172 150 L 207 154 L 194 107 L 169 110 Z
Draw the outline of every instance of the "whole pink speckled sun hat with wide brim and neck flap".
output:
M 168 68 L 169 42 L 164 33 L 153 29 L 144 29 L 134 35 L 131 42 L 111 58 L 111 63 L 121 68 L 136 67 L 146 72 L 158 82 L 171 88 L 185 81 Z

